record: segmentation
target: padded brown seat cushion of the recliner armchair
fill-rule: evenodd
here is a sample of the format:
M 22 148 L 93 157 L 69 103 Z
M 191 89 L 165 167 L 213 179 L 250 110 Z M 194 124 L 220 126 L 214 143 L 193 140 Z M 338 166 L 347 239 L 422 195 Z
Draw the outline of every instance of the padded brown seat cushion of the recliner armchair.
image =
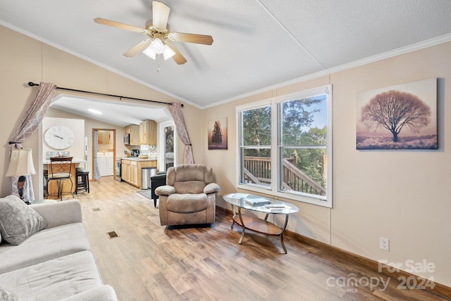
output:
M 178 194 L 168 196 L 167 209 L 172 212 L 191 213 L 206 210 L 206 194 Z

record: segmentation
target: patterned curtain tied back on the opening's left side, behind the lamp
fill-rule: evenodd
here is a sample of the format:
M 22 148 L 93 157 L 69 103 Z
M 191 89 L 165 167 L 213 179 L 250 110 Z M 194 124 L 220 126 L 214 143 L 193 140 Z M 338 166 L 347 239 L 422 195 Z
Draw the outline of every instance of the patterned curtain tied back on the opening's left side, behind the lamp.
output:
M 39 89 L 35 96 L 35 100 L 30 105 L 27 113 L 23 115 L 22 122 L 20 122 L 19 127 L 14 132 L 11 141 L 16 142 L 11 144 L 12 148 L 23 148 L 23 141 L 27 140 L 35 134 L 39 124 L 41 124 L 42 119 L 47 114 L 49 110 L 51 100 L 54 98 L 56 90 L 55 84 L 41 82 L 39 83 Z M 9 157 L 11 158 L 11 149 L 9 151 Z M 27 179 L 27 185 L 23 189 L 24 200 L 34 200 L 35 193 L 33 192 L 33 183 L 30 175 L 25 176 Z M 19 177 L 11 178 L 11 194 L 16 194 L 18 196 L 18 179 Z

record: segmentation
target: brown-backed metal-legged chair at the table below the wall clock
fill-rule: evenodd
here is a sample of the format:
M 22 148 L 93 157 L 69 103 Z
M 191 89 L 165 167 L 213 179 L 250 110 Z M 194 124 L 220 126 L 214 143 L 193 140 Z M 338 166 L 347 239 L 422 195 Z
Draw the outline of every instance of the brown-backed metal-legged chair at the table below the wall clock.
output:
M 50 158 L 50 168 L 49 168 L 49 182 L 48 186 L 50 186 L 51 181 L 56 181 L 58 185 L 58 198 L 63 200 L 63 194 L 68 194 L 73 197 L 73 181 L 70 179 L 70 172 L 72 171 L 72 157 L 52 157 Z M 63 191 L 64 181 L 70 181 L 70 189 L 68 191 Z M 56 193 L 50 193 L 50 195 Z M 48 196 L 47 196 L 48 198 Z

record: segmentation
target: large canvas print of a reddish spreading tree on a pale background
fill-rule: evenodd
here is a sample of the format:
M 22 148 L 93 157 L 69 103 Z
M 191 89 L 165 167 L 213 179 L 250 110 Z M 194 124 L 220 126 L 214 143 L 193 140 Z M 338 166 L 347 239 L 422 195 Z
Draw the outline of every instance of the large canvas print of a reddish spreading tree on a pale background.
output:
M 437 149 L 437 79 L 357 94 L 357 150 Z

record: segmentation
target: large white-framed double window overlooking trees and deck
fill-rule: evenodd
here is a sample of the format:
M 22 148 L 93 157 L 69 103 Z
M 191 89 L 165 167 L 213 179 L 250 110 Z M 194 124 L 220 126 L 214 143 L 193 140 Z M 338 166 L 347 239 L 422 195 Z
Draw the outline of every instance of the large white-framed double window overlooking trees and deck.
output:
M 237 108 L 239 188 L 332 207 L 330 90 Z

